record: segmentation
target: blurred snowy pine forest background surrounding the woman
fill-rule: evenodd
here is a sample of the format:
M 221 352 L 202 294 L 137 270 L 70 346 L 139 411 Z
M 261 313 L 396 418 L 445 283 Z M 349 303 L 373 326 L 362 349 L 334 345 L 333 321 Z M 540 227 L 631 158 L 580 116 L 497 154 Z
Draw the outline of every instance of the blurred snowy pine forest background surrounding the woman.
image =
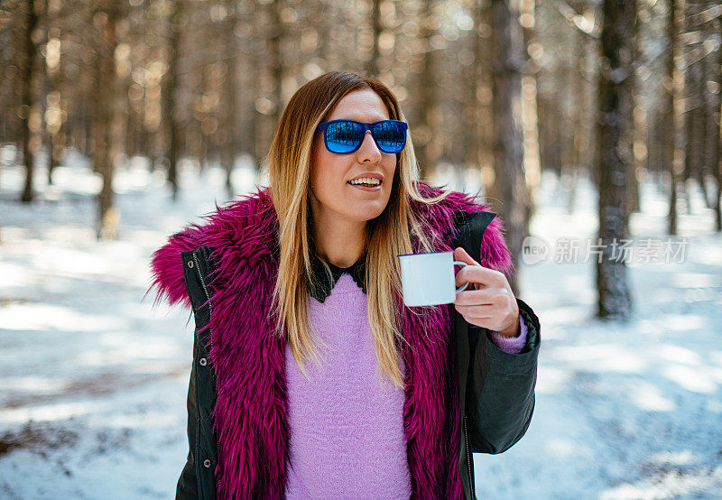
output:
M 714 497 L 719 0 L 0 1 L 0 494 L 171 495 L 192 330 L 138 312 L 149 255 L 267 184 L 332 69 L 393 89 L 422 180 L 492 203 L 542 319 L 538 416 L 480 494 Z

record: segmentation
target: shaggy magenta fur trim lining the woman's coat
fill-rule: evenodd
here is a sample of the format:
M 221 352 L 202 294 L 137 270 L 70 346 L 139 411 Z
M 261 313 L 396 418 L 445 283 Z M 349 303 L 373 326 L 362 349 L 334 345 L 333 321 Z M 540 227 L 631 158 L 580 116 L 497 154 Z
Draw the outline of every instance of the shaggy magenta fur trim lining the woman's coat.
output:
M 421 195 L 441 190 L 423 182 Z M 288 436 L 285 384 L 285 340 L 273 335 L 271 310 L 278 271 L 278 218 L 270 190 L 235 200 L 172 235 L 153 254 L 155 302 L 191 308 L 183 278 L 181 252 L 209 246 L 214 270 L 208 275 L 211 296 L 210 351 L 217 401 L 213 426 L 218 444 L 215 477 L 219 498 L 282 498 L 286 480 Z M 440 236 L 437 250 L 452 250 L 459 212 L 489 211 L 465 193 L 453 192 L 434 205 L 412 200 L 424 230 Z M 491 221 L 481 247 L 471 255 L 502 272 L 514 268 L 502 234 L 502 222 Z M 414 245 L 418 242 L 412 239 Z M 415 247 L 414 251 L 419 251 Z M 458 473 L 460 415 L 453 304 L 412 314 L 402 311 L 405 366 L 404 431 L 412 473 L 413 498 L 461 498 Z M 421 310 L 421 308 L 412 308 Z

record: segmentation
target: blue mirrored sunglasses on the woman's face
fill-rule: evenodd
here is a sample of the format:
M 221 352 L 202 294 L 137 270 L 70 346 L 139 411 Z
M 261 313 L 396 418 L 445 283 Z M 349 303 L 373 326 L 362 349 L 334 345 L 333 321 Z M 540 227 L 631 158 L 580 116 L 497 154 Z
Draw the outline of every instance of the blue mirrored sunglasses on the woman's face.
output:
M 398 120 L 382 120 L 373 124 L 365 124 L 354 120 L 333 120 L 322 122 L 316 132 L 323 132 L 323 142 L 331 153 L 354 153 L 364 142 L 366 130 L 384 153 L 400 153 L 406 146 L 405 122 Z

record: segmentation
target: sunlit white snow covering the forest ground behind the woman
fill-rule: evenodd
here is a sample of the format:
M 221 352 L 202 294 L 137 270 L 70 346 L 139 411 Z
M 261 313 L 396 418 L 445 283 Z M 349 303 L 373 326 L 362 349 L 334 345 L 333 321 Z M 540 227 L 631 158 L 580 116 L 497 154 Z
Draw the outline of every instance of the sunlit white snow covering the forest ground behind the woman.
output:
M 172 498 L 193 323 L 143 294 L 153 250 L 227 199 L 223 173 L 183 163 L 173 203 L 134 159 L 115 181 L 119 239 L 97 242 L 98 180 L 80 160 L 51 188 L 39 169 L 29 207 L 14 201 L 22 169 L 0 171 L 0 497 Z M 237 192 L 254 182 L 249 165 L 235 171 Z M 668 237 L 662 193 L 642 188 L 633 246 Z M 594 190 L 581 181 L 570 214 L 568 194 L 542 178 L 532 235 L 596 241 Z M 722 237 L 699 192 L 690 202 L 673 238 L 687 238 L 683 258 L 628 266 L 625 324 L 593 318 L 584 255 L 521 266 L 542 323 L 536 405 L 512 449 L 475 455 L 479 498 L 722 497 Z

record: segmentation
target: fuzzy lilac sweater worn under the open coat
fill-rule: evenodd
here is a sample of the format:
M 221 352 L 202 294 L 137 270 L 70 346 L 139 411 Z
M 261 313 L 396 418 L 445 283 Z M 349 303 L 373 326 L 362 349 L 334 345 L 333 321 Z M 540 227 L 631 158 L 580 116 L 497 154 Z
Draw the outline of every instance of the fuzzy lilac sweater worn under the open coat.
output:
M 409 498 L 411 473 L 403 433 L 403 389 L 379 378 L 366 294 L 348 273 L 324 302 L 308 297 L 309 322 L 327 344 L 322 368 L 308 360 L 307 379 L 286 348 L 290 428 L 289 499 Z M 512 354 L 526 343 L 520 319 L 516 338 L 492 332 Z M 402 363 L 403 373 L 403 363 Z

